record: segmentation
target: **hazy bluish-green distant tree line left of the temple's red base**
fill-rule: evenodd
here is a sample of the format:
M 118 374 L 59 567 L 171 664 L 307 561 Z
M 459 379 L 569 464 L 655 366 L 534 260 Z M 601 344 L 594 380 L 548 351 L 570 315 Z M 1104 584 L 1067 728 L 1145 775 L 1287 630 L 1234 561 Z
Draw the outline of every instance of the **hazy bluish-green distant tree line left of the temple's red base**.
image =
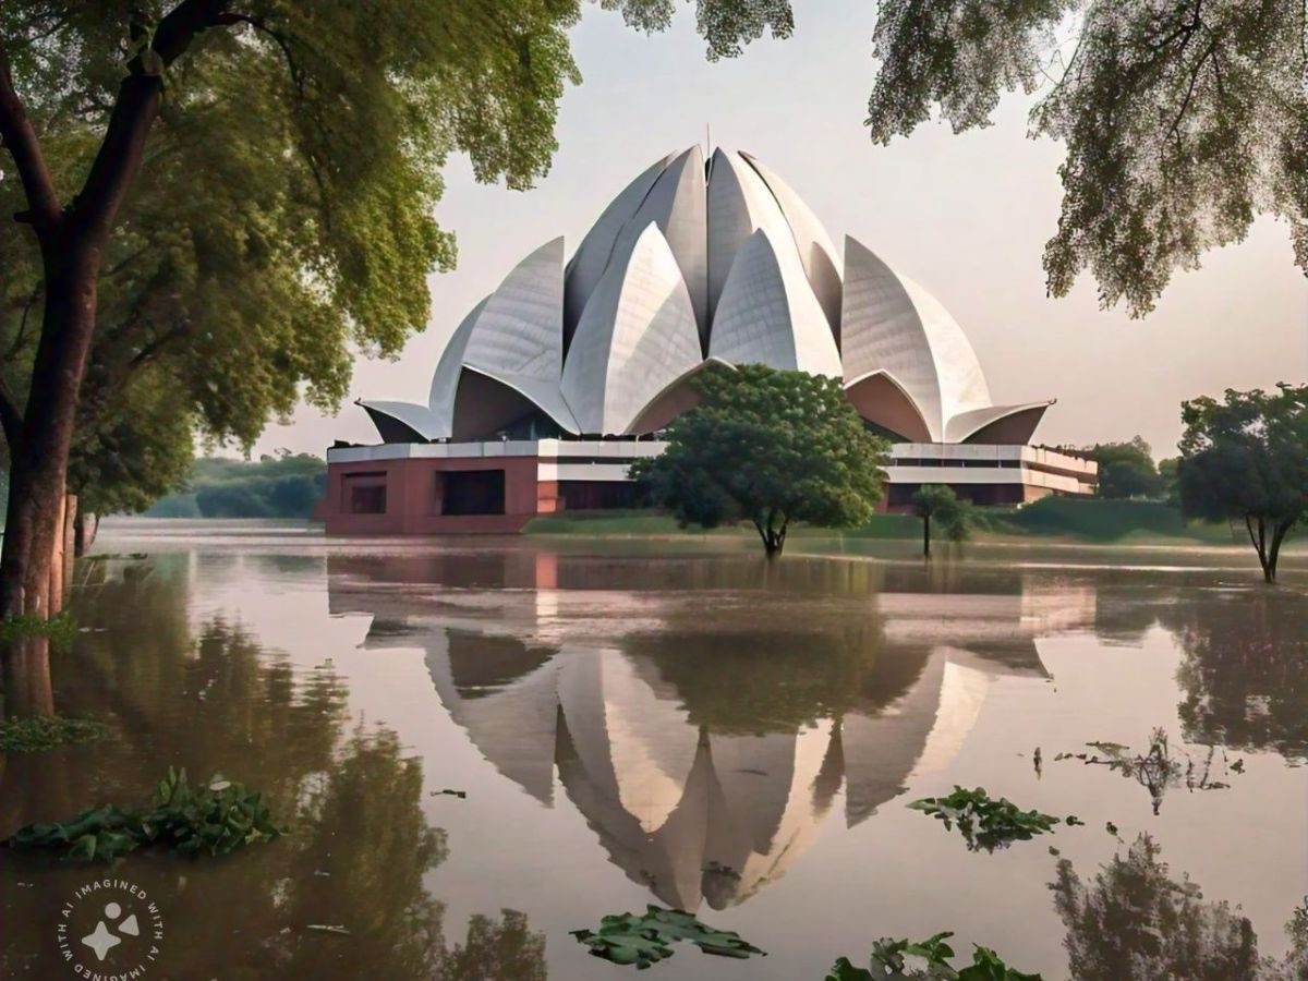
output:
M 183 487 L 145 514 L 153 518 L 307 518 L 327 489 L 327 464 L 310 454 L 195 462 Z

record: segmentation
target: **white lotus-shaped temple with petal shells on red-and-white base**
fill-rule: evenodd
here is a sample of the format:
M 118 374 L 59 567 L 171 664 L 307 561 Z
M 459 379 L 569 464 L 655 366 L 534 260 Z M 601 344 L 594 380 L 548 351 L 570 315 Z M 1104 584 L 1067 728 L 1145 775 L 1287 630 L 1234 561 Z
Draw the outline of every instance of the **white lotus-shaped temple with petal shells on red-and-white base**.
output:
M 344 534 L 513 531 L 634 502 L 632 460 L 696 404 L 710 362 L 842 379 L 893 441 L 887 506 L 922 484 L 977 504 L 1093 489 L 1095 464 L 1028 443 L 1049 400 L 995 404 L 930 293 L 821 222 L 747 153 L 698 145 L 640 174 L 565 262 L 518 263 L 454 331 L 426 404 L 360 403 L 373 446 L 328 450 L 319 514 Z

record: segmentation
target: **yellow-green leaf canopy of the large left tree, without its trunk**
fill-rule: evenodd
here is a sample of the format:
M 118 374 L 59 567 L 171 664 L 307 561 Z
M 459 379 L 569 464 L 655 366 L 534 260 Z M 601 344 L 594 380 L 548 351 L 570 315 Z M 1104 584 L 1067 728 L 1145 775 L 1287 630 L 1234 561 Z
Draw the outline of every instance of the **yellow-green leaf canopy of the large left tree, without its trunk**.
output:
M 433 217 L 447 156 L 528 187 L 579 81 L 574 0 L 7 3 L 0 38 L 59 200 L 82 188 L 120 78 L 158 71 L 132 58 L 200 8 L 101 267 L 71 456 L 92 510 L 175 483 L 192 430 L 249 446 L 301 396 L 336 405 L 356 352 L 396 353 L 428 319 L 428 273 L 454 264 Z M 0 213 L 27 207 L 0 179 Z M 43 302 L 26 225 L 0 222 L 0 394 L 21 407 Z

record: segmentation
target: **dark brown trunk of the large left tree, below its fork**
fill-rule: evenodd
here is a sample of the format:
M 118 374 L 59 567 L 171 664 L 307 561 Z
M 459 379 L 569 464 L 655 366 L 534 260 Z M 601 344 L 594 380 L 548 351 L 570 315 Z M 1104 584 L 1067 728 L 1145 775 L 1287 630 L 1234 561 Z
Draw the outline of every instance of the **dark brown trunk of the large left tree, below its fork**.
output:
M 68 245 L 67 242 L 64 243 Z M 98 249 L 47 255 L 46 307 L 21 439 L 10 447 L 0 617 L 48 617 L 77 395 L 95 328 Z M 50 268 L 54 264 L 54 268 Z M 60 578 L 61 582 L 61 578 Z

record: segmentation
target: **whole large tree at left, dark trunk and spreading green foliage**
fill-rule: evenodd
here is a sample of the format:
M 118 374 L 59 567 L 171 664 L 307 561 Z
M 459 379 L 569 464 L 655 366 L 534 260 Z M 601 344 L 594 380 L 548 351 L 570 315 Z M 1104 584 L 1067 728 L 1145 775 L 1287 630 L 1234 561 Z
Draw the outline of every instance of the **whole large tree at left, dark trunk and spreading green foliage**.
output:
M 75 432 L 95 451 L 139 374 L 249 443 L 301 392 L 336 404 L 354 349 L 394 353 L 425 323 L 426 275 L 454 262 L 432 216 L 441 166 L 466 152 L 514 188 L 545 171 L 577 16 L 577 0 L 0 7 L 0 209 L 17 217 L 0 225 L 0 615 L 48 612 Z

